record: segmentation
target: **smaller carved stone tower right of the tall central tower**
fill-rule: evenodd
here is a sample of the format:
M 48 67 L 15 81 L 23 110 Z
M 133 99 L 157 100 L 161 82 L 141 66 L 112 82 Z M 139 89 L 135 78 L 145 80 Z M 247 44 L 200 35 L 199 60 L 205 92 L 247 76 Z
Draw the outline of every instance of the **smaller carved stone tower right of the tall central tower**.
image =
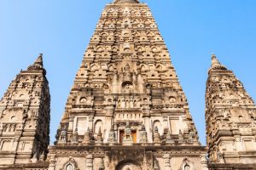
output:
M 256 163 L 256 107 L 242 83 L 212 54 L 206 94 L 211 163 Z

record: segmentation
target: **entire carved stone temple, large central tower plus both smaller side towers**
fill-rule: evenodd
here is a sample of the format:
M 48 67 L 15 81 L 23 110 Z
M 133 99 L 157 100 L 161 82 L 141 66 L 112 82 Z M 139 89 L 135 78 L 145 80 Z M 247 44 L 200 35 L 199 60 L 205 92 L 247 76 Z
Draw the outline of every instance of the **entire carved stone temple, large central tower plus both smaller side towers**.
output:
M 255 105 L 216 56 L 206 96 L 209 158 L 148 5 L 115 0 L 90 39 L 49 151 L 42 56 L 12 82 L 0 104 L 0 169 L 253 169 Z

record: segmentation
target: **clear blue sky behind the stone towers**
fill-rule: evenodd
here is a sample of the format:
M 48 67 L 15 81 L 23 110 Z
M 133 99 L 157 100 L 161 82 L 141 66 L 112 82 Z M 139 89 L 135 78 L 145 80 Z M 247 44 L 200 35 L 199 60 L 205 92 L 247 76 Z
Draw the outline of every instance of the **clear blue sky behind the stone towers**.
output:
M 110 0 L 1 0 L 0 95 L 44 53 L 51 94 L 51 141 L 105 4 Z M 255 0 L 145 0 L 172 55 L 205 144 L 205 88 L 214 52 L 256 99 Z

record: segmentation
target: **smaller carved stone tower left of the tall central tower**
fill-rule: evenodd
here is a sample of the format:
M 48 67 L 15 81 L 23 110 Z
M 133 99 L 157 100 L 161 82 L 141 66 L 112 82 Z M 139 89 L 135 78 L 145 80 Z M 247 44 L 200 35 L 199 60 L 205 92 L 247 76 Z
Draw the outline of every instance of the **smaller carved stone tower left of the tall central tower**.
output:
M 0 167 L 46 158 L 49 87 L 42 54 L 10 83 L 0 101 Z

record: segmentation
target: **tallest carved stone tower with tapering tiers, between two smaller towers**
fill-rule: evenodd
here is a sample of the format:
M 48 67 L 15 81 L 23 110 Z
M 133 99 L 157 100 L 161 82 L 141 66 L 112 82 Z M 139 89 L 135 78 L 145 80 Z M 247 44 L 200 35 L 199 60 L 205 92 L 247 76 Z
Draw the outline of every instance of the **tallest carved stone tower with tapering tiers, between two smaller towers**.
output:
M 49 146 L 49 170 L 207 169 L 206 153 L 148 5 L 108 4 Z

